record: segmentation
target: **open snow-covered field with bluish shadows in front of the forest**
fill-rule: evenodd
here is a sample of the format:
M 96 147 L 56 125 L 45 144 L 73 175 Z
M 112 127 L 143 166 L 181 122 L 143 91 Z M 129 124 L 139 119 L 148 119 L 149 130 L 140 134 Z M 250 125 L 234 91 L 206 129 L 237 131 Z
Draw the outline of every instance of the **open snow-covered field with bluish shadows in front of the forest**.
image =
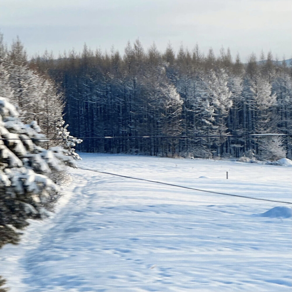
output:
M 292 201 L 288 166 L 81 157 L 84 168 Z M 291 205 L 71 172 L 55 214 L 0 250 L 11 292 L 291 291 Z

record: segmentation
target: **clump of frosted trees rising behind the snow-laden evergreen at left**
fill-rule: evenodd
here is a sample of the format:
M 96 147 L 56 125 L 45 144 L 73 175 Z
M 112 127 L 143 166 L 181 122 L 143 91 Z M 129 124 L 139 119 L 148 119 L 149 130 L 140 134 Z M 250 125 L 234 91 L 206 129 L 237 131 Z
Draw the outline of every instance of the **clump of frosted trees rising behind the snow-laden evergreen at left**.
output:
M 7 51 L 1 35 L 0 84 L 1 96 L 8 98 L 17 107 L 21 121 L 25 124 L 37 121 L 42 133 L 51 138 L 44 147 L 65 146 L 69 156 L 80 159 L 74 146 L 81 140 L 70 136 L 62 128 L 65 124 L 64 102 L 54 82 L 29 68 L 19 39 L 13 42 L 11 51 Z

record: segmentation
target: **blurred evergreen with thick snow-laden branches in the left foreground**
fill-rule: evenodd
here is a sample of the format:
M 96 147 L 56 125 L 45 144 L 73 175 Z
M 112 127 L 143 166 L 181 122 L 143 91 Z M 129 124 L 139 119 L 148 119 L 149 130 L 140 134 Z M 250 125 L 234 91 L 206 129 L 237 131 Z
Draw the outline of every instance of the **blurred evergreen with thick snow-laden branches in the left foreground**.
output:
M 45 136 L 36 121 L 23 124 L 15 107 L 0 97 L 0 247 L 16 243 L 16 228 L 28 218 L 42 218 L 58 197 L 58 187 L 48 176 L 73 165 L 67 150 L 41 147 Z

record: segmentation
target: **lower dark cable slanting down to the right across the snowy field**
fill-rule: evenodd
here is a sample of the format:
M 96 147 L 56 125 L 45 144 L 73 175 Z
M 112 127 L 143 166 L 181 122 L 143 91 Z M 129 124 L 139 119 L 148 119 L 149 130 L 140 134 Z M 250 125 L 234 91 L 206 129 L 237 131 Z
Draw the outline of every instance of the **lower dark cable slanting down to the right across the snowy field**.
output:
M 214 191 L 208 191 L 208 190 L 201 190 L 201 189 L 195 189 L 193 187 L 185 187 L 185 186 L 181 186 L 181 185 L 174 185 L 174 184 L 171 184 L 171 183 L 163 183 L 163 182 L 156 181 L 156 180 L 147 180 L 145 178 L 134 178 L 134 177 L 127 176 L 127 175 L 120 175 L 120 174 L 116 174 L 116 173 L 110 173 L 110 172 L 105 172 L 105 171 L 98 171 L 98 170 L 95 170 L 95 169 L 82 168 L 82 167 L 78 167 L 78 168 L 83 169 L 83 170 L 94 171 L 94 172 L 98 172 L 98 173 L 105 173 L 105 174 L 109 174 L 109 175 L 115 175 L 115 176 L 119 176 L 119 177 L 122 177 L 122 178 L 131 178 L 131 179 L 134 179 L 134 180 L 142 180 L 142 181 L 147 181 L 147 182 L 150 182 L 150 183 L 159 183 L 159 184 L 162 184 L 162 185 L 170 185 L 172 187 L 181 187 L 181 188 L 188 189 L 188 190 L 195 190 L 195 191 L 200 191 L 200 192 L 220 194 L 220 195 L 232 196 L 232 197 L 241 197 L 241 198 L 253 199 L 253 200 L 270 201 L 270 202 L 277 202 L 277 203 L 283 203 L 283 204 L 292 204 L 292 202 L 278 201 L 278 200 L 270 200 L 270 199 L 262 199 L 262 198 L 256 198 L 256 197 L 248 197 L 248 196 L 242 196 L 242 195 L 227 194 L 227 193 L 222 193 L 222 192 L 214 192 Z

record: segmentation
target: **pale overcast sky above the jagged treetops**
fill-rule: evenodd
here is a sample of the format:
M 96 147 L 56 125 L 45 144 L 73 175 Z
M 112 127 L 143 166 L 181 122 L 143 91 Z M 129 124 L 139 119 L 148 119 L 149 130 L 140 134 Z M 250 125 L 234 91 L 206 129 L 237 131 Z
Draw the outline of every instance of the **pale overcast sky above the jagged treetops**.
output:
M 291 0 L 0 0 L 0 32 L 11 44 L 19 36 L 29 58 L 113 47 L 121 54 L 139 39 L 165 51 L 170 43 L 205 55 L 229 47 L 244 62 L 251 53 L 292 55 Z

